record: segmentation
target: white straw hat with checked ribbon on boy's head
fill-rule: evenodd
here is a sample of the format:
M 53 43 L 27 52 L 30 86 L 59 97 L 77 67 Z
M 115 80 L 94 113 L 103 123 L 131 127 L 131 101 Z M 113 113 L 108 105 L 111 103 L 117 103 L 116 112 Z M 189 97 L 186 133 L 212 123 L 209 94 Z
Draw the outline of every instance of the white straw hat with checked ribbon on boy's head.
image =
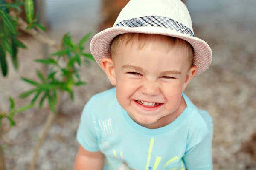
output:
M 195 51 L 196 76 L 212 62 L 211 48 L 207 42 L 194 36 L 189 11 L 180 0 L 130 0 L 114 26 L 99 32 L 91 41 L 91 54 L 100 67 L 102 58 L 110 57 L 113 38 L 125 33 L 161 34 L 186 40 Z

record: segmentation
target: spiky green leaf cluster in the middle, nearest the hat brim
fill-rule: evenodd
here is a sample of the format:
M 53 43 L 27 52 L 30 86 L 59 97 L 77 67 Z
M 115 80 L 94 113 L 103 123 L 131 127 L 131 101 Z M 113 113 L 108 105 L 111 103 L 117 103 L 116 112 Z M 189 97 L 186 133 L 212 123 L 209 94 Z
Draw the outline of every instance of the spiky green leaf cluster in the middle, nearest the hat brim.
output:
M 84 52 L 84 42 L 87 41 L 90 34 L 85 35 L 76 45 L 70 34 L 67 33 L 63 37 L 60 51 L 53 53 L 47 59 L 36 59 L 35 62 L 51 66 L 50 71 L 46 77 L 41 71 L 36 71 L 41 82 L 22 77 L 23 81 L 33 85 L 34 88 L 24 92 L 20 97 L 25 98 L 34 95 L 31 104 L 38 100 L 39 109 L 42 107 L 43 102 L 48 100 L 49 108 L 53 113 L 56 113 L 55 106 L 57 105 L 58 91 L 66 91 L 70 94 L 70 98 L 74 99 L 72 87 L 86 85 L 86 82 L 82 82 L 80 79 L 77 66 L 81 66 L 81 60 L 90 62 L 88 59 L 93 59 L 91 54 Z M 60 59 L 66 61 L 64 66 L 60 65 Z M 39 100 L 41 94 L 43 95 Z

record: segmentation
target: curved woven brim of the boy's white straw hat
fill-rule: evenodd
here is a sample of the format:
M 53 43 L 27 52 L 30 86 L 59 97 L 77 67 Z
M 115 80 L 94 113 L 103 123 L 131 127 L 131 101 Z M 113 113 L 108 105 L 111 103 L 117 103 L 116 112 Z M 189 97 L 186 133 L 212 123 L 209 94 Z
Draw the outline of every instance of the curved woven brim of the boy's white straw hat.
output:
M 102 68 L 101 60 L 103 57 L 110 57 L 110 43 L 114 37 L 119 34 L 125 33 L 144 33 L 144 34 L 160 34 L 171 37 L 177 37 L 189 42 L 194 48 L 194 60 L 193 65 L 195 65 L 198 70 L 195 76 L 203 73 L 207 70 L 212 62 L 212 50 L 204 40 L 197 37 L 192 37 L 177 31 L 173 31 L 167 28 L 161 27 L 111 27 L 105 29 L 98 34 L 96 34 L 91 40 L 90 51 L 96 62 Z

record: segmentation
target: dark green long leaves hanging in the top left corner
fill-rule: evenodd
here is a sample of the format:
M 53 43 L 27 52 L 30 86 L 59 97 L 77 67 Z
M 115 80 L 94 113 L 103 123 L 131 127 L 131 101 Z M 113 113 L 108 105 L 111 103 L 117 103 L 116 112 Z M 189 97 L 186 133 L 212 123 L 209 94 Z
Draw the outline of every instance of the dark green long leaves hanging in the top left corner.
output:
M 3 1 L 3 0 L 2 0 Z M 3 76 L 7 76 L 8 74 L 8 64 L 6 62 L 7 53 L 10 54 L 12 58 L 12 63 L 14 68 L 18 69 L 18 59 L 17 52 L 19 48 L 26 48 L 20 40 L 17 39 L 17 36 L 20 35 L 18 31 L 18 21 L 19 16 L 15 15 L 20 13 L 20 6 L 24 6 L 26 8 L 27 20 L 29 21 L 29 25 L 27 29 L 40 28 L 45 30 L 45 28 L 37 23 L 38 16 L 33 18 L 33 1 L 26 0 L 26 2 L 22 2 L 22 0 L 15 0 L 13 3 L 0 3 L 0 65 Z M 15 11 L 16 13 L 10 13 L 10 11 Z

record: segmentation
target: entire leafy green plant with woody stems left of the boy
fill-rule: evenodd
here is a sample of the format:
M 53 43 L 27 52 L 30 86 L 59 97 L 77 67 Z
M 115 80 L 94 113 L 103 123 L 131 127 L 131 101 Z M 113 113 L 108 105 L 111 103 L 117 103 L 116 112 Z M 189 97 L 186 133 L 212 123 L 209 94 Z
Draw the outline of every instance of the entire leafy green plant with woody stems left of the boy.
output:
M 38 15 L 34 14 L 33 0 L 3 0 L 0 1 L 0 67 L 4 77 L 8 75 L 8 64 L 6 57 L 12 58 L 12 63 L 18 70 L 18 56 L 17 52 L 20 48 L 27 48 L 17 36 L 20 35 L 20 30 L 31 34 L 33 37 L 43 42 L 44 44 L 54 46 L 56 52 L 51 54 L 48 58 L 36 59 L 35 62 L 47 65 L 47 74 L 36 70 L 36 74 L 40 81 L 30 79 L 28 77 L 21 77 L 21 79 L 33 88 L 20 94 L 20 98 L 32 96 L 32 100 L 28 106 L 20 109 L 14 109 L 14 101 L 10 98 L 11 110 L 9 114 L 1 114 L 2 118 L 7 118 L 10 125 L 15 125 L 13 116 L 18 111 L 23 111 L 34 106 L 41 109 L 45 101 L 49 106 L 48 118 L 45 122 L 43 132 L 38 139 L 34 150 L 34 156 L 30 164 L 30 170 L 35 169 L 38 150 L 49 131 L 49 128 L 58 113 L 61 95 L 64 92 L 70 94 L 70 98 L 74 99 L 73 86 L 85 85 L 79 75 L 79 67 L 83 62 L 94 61 L 91 54 L 84 50 L 84 43 L 89 39 L 91 33 L 86 34 L 81 38 L 79 43 L 75 43 L 70 33 L 64 34 L 61 43 L 56 44 L 44 32 L 45 28 L 38 23 Z M 20 17 L 21 7 L 24 6 L 26 11 L 26 21 Z M 8 116 L 7 116 L 8 115 Z M 0 158 L 3 157 L 0 155 Z M 1 164 L 1 162 L 0 162 Z M 0 170 L 1 165 L 0 165 Z M 3 169 L 4 170 L 4 169 Z

